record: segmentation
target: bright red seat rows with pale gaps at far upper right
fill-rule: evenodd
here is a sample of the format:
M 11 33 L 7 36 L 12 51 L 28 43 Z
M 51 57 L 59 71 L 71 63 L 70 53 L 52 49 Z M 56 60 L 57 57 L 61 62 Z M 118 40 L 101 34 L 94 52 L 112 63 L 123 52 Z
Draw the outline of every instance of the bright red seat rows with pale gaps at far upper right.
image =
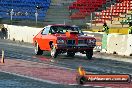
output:
M 117 3 L 115 3 L 114 5 L 111 4 L 111 6 L 108 7 L 106 10 L 96 13 L 95 15 L 97 17 L 95 18 L 95 20 L 96 19 L 104 19 L 105 21 L 112 20 L 112 19 L 109 19 L 108 16 L 119 17 L 120 14 L 127 13 L 129 10 L 132 10 L 131 0 L 117 0 Z M 132 21 L 132 20 L 123 20 L 121 21 L 121 23 L 127 24 L 129 21 Z

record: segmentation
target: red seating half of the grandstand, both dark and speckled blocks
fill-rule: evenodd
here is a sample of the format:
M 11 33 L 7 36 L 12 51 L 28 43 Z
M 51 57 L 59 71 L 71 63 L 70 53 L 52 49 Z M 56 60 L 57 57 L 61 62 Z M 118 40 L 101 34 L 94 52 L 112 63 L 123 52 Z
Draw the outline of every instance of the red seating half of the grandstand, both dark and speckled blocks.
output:
M 69 9 L 73 10 L 72 20 L 87 20 L 92 16 L 86 22 L 92 23 L 94 28 L 102 27 L 104 22 L 114 28 L 128 27 L 132 21 L 131 0 L 76 0 Z

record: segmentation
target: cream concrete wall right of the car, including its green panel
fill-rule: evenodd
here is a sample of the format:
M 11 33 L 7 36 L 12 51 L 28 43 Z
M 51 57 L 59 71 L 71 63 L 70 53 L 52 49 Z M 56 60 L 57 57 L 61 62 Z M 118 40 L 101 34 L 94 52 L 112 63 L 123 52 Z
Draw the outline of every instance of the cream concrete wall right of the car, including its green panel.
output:
M 88 35 L 93 35 L 96 39 L 102 38 L 102 41 L 97 40 L 100 42 L 102 47 L 100 50 L 101 52 L 111 53 L 111 54 L 118 54 L 123 56 L 132 56 L 132 35 L 131 34 L 119 34 L 119 33 L 112 33 L 112 34 L 105 34 L 105 33 L 92 33 L 86 32 Z M 100 36 L 99 36 L 100 35 Z M 97 45 L 96 47 L 99 47 Z M 99 50 L 99 49 L 95 49 Z

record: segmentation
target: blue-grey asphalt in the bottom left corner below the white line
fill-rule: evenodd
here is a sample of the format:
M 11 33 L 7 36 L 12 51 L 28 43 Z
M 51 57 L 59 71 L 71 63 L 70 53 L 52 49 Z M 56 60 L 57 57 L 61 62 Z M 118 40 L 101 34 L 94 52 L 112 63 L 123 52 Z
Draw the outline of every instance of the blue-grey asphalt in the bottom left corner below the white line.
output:
M 61 84 L 50 84 L 32 80 L 8 73 L 0 72 L 0 88 L 87 88 L 84 86 L 70 86 Z M 94 88 L 90 87 L 89 88 Z

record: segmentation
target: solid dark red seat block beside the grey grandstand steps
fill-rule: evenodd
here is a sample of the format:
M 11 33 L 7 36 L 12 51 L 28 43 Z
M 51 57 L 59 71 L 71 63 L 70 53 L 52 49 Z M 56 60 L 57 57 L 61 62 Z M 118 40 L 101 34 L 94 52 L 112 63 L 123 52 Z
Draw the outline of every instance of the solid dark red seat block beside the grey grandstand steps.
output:
M 99 7 L 102 6 L 102 4 L 105 4 L 105 3 L 106 3 L 106 0 L 76 0 L 69 6 L 69 9 L 77 9 L 78 12 L 73 13 L 70 16 L 70 18 L 71 19 L 72 18 L 75 19 L 76 17 L 77 19 L 85 18 L 86 16 L 89 16 L 92 12 L 96 11 Z

